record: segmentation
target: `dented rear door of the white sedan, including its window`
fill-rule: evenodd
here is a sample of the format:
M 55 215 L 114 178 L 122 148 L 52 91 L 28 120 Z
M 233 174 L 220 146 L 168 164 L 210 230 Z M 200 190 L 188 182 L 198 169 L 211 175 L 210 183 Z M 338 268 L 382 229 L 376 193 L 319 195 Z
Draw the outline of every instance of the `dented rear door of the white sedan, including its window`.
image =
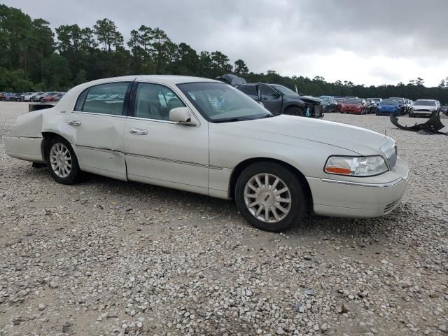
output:
M 83 91 L 67 119 L 74 150 L 85 172 L 126 180 L 123 146 L 125 97 L 130 82 L 96 85 Z

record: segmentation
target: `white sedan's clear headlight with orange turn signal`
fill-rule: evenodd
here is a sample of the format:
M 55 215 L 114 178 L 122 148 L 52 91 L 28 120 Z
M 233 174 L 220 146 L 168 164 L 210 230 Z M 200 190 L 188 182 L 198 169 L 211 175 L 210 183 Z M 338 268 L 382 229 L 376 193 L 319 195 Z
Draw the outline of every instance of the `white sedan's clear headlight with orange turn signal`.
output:
M 374 176 L 388 171 L 380 155 L 347 158 L 330 156 L 325 164 L 325 173 L 345 176 Z

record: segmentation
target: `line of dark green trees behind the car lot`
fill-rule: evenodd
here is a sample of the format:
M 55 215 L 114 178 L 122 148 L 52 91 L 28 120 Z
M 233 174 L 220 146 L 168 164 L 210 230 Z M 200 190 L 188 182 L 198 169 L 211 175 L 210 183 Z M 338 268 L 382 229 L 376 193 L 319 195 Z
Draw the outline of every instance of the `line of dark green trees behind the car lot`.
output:
M 115 22 L 97 20 L 93 27 L 61 25 L 32 19 L 18 8 L 0 5 L 0 91 L 67 90 L 89 80 L 127 74 L 176 74 L 216 78 L 235 73 L 248 83 L 278 83 L 302 92 L 356 97 L 433 98 L 448 103 L 448 77 L 437 87 L 423 78 L 397 85 L 365 86 L 351 81 L 330 83 L 321 76 L 253 73 L 242 59 L 233 64 L 221 51 L 197 52 L 156 27 L 141 25 L 125 41 Z

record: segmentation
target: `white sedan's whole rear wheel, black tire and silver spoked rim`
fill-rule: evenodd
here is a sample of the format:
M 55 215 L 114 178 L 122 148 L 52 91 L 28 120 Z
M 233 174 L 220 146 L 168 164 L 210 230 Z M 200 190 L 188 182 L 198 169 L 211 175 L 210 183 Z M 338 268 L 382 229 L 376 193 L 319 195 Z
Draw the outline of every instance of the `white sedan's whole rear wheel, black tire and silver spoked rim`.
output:
M 45 145 L 45 161 L 56 182 L 73 184 L 78 181 L 80 169 L 78 159 L 69 141 L 54 137 Z

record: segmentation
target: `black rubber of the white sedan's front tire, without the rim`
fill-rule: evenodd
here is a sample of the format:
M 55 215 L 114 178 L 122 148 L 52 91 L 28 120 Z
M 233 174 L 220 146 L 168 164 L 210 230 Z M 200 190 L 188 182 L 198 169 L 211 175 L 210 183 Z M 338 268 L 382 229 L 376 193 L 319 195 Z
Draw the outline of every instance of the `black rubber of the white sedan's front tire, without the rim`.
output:
M 279 182 L 279 184 L 277 184 L 277 186 L 280 186 L 279 188 L 283 189 L 282 185 L 284 185 L 289 189 L 288 195 L 290 197 L 290 205 L 288 206 L 288 204 L 281 203 L 281 207 L 289 207 L 289 212 L 286 214 L 286 216 L 280 213 L 280 215 L 284 216 L 284 218 L 281 218 L 275 223 L 269 223 L 269 215 L 267 222 L 255 218 L 255 214 L 252 214 L 251 211 L 249 211 L 248 206 L 246 206 L 246 185 L 258 174 L 269 174 L 268 181 L 269 179 L 270 181 L 274 181 L 275 178 L 278 178 L 281 181 Z M 274 190 L 276 190 L 276 188 Z M 281 195 L 279 196 L 282 197 Z M 269 199 L 269 196 L 267 197 Z M 251 197 L 251 199 L 254 198 L 255 197 Z M 267 200 L 264 201 L 266 202 Z M 308 209 L 307 193 L 300 179 L 290 169 L 274 162 L 257 162 L 246 167 L 246 169 L 241 172 L 241 174 L 238 176 L 237 184 L 235 186 L 235 202 L 237 203 L 239 212 L 244 216 L 244 218 L 246 218 L 246 221 L 248 221 L 248 223 L 255 226 L 255 228 L 259 228 L 260 230 L 272 232 L 279 232 L 291 228 L 293 225 L 295 225 L 295 223 L 303 218 Z M 260 199 L 258 199 L 258 202 L 261 202 Z M 265 209 L 269 208 L 262 206 L 261 204 L 260 207 Z M 262 212 L 258 215 L 259 218 L 260 216 L 261 218 L 262 216 L 265 216 L 265 209 L 263 209 Z M 272 220 L 274 220 L 273 213 Z

